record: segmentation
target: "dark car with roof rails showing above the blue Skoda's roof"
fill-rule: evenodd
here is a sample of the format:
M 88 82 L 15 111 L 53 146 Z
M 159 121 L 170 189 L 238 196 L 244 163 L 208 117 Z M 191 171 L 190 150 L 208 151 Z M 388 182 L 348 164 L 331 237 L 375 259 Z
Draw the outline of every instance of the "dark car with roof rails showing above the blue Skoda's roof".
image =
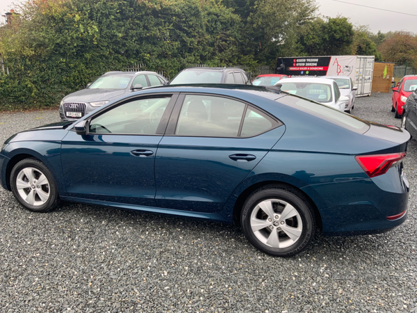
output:
M 244 70 L 234 67 L 188 67 L 177 74 L 170 85 L 190 83 L 231 83 L 252 85 Z

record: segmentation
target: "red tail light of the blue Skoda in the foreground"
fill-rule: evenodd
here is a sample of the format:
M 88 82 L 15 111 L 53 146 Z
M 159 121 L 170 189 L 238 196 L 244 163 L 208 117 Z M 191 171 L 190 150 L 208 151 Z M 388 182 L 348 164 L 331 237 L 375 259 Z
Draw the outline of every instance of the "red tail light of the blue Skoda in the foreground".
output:
M 385 174 L 391 166 L 404 159 L 405 152 L 393 154 L 357 155 L 354 157 L 369 177 Z

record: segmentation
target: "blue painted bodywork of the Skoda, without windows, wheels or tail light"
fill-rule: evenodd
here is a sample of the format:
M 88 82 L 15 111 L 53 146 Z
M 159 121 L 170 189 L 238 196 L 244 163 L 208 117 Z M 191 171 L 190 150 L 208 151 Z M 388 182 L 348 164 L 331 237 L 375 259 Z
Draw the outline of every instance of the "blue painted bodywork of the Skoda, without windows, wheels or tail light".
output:
M 240 201 L 256 188 L 286 184 L 311 200 L 325 234 L 376 232 L 407 218 L 386 219 L 407 209 L 409 186 L 402 162 L 384 175 L 369 178 L 355 156 L 403 152 L 409 133 L 361 121 L 324 104 L 311 102 L 359 127 L 326 118 L 310 107 L 303 109 L 296 102 L 307 100 L 300 97 L 225 85 L 149 88 L 125 95 L 81 120 L 126 99 L 174 93 L 240 99 L 274 115 L 282 125 L 252 138 L 79 135 L 72 130 L 76 122 L 49 125 L 7 141 L 0 155 L 2 186 L 10 190 L 8 164 L 25 154 L 51 170 L 63 200 L 232 223 L 243 204 Z M 152 157 L 131 157 L 129 152 L 138 147 L 152 150 Z M 229 155 L 236 153 L 253 154 L 256 161 L 229 161 Z

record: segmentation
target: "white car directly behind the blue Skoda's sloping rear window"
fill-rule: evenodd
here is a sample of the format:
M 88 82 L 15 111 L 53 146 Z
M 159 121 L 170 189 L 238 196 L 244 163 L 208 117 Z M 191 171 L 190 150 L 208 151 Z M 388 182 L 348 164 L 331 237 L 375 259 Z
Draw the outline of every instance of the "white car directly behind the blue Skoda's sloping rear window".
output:
M 335 81 L 317 77 L 296 77 L 279 81 L 275 86 L 292 95 L 320 102 L 334 109 L 345 111 L 349 98 L 341 95 Z

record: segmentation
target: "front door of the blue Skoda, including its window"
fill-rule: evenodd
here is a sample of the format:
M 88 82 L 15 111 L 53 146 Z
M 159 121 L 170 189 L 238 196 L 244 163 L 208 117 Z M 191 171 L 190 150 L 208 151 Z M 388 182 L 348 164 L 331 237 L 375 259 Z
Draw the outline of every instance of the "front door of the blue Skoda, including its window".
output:
M 130 99 L 91 118 L 89 134 L 69 131 L 61 152 L 68 196 L 154 206 L 154 161 L 173 98 Z

